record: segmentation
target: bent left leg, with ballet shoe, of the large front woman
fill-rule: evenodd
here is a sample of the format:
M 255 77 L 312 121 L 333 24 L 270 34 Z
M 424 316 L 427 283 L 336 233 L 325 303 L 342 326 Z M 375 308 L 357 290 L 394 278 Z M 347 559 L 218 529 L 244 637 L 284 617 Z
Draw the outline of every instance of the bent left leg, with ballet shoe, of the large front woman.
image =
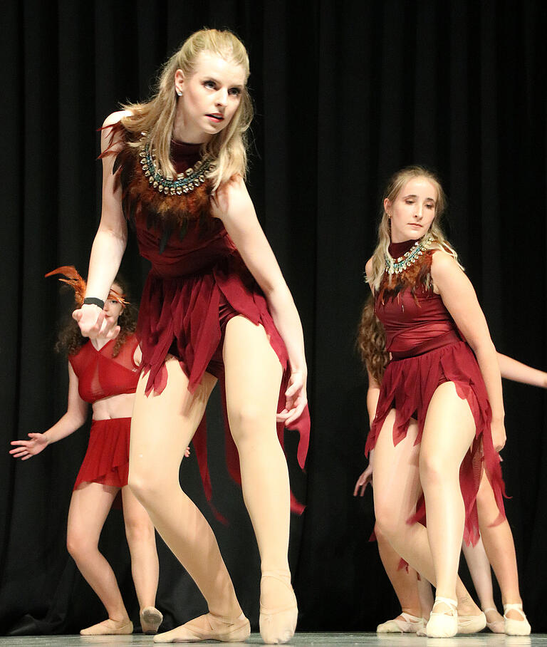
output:
M 155 636 L 155 642 L 241 640 L 249 633 L 217 539 L 179 484 L 179 467 L 202 419 L 215 378 L 205 373 L 193 394 L 175 358 L 166 361 L 167 385 L 145 395 L 142 376 L 133 409 L 129 485 L 152 523 L 202 591 L 209 614 Z

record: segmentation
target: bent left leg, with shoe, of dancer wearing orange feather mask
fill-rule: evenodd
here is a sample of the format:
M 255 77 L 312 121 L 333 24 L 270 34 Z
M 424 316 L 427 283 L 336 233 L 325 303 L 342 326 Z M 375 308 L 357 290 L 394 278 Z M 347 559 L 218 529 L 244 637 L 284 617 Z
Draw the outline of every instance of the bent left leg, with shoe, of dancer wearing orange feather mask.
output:
M 83 635 L 133 631 L 114 571 L 98 548 L 100 532 L 117 492 L 118 487 L 82 483 L 74 490 L 68 509 L 68 552 L 108 613 L 108 620 L 82 629 Z

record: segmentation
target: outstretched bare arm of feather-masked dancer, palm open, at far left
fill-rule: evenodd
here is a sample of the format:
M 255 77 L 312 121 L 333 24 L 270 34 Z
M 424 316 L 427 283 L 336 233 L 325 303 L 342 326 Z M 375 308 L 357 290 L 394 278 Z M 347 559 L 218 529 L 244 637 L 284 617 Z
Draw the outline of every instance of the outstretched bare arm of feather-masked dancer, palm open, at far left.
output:
M 66 438 L 71 433 L 74 433 L 75 430 L 79 429 L 85 423 L 87 413 L 88 403 L 80 398 L 80 393 L 78 393 L 78 377 L 69 363 L 68 404 L 65 415 L 46 432 L 29 433 L 28 438 L 31 440 L 12 440 L 11 445 L 14 445 L 15 449 L 10 450 L 9 453 L 14 458 L 28 460 L 45 449 L 51 442 L 57 442 L 61 438 Z

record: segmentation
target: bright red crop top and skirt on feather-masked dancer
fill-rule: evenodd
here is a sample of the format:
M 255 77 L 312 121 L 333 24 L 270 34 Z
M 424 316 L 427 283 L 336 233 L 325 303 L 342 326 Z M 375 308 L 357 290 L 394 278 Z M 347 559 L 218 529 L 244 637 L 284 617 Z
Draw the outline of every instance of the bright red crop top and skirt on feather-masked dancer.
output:
M 113 357 L 115 340 L 100 351 L 88 341 L 78 353 L 69 356 L 68 361 L 78 377 L 80 398 L 93 404 L 112 395 L 135 393 L 140 374 L 140 368 L 133 361 L 137 343 L 135 335 L 131 335 Z M 130 427 L 131 418 L 93 420 L 74 490 L 83 482 L 127 485 Z

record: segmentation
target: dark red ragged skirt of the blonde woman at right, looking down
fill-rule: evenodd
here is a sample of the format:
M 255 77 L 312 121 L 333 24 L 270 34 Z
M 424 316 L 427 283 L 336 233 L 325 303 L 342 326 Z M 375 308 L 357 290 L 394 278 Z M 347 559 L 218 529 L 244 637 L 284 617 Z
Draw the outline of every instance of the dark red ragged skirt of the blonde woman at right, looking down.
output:
M 476 544 L 479 539 L 476 495 L 483 467 L 498 504 L 498 521 L 505 518 L 505 486 L 501 477 L 499 455 L 492 443 L 491 408 L 486 386 L 476 357 L 466 342 L 456 341 L 422 355 L 390 361 L 382 379 L 376 416 L 367 438 L 365 453 L 368 454 L 374 449 L 385 418 L 393 408 L 393 444 L 397 445 L 405 438 L 411 418 L 415 418 L 418 423 L 415 444 L 420 443 L 429 402 L 437 386 L 444 382 L 454 382 L 459 397 L 469 403 L 475 421 L 475 438 L 462 461 L 459 482 L 466 511 L 464 540 L 467 544 Z M 417 504 L 416 514 L 408 521 L 424 522 L 424 519 L 425 506 L 422 497 Z

